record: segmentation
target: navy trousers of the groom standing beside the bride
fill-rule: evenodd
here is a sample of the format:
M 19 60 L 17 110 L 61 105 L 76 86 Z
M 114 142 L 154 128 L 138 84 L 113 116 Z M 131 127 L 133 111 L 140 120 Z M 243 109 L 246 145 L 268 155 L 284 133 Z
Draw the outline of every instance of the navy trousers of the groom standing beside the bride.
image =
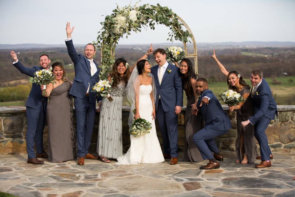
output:
M 175 115 L 175 111 L 165 112 L 159 99 L 156 118 L 162 134 L 164 154 L 177 157 L 178 115 Z

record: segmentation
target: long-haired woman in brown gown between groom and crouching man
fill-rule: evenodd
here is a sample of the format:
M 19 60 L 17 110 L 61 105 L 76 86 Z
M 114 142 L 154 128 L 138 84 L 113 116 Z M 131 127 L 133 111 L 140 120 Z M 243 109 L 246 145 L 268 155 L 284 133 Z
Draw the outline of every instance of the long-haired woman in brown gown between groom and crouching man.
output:
M 174 62 L 178 66 L 177 62 Z M 202 115 L 195 115 L 198 95 L 196 93 L 196 79 L 198 76 L 193 71 L 191 60 L 183 58 L 180 62 L 180 73 L 183 90 L 187 96 L 187 109 L 185 112 L 185 139 L 183 161 L 200 162 L 203 157 L 196 147 L 193 136 L 202 129 Z

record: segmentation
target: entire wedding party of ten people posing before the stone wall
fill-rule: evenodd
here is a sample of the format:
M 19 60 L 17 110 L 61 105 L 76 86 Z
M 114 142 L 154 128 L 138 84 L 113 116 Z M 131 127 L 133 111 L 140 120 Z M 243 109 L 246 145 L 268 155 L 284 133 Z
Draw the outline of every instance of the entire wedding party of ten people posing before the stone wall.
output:
M 108 78 L 100 79 L 100 66 L 93 60 L 96 46 L 88 43 L 84 55 L 78 54 L 73 45 L 73 30 L 68 22 L 65 44 L 74 64 L 73 82 L 67 78 L 60 62 L 49 66 L 48 54 L 40 55 L 40 66 L 28 68 L 22 65 L 14 51 L 10 52 L 13 65 L 30 76 L 33 82 L 26 101 L 27 163 L 43 164 L 37 158 L 48 158 L 54 163 L 77 159 L 78 165 L 84 165 L 85 159 L 104 163 L 116 160 L 117 165 L 161 163 L 170 159 L 171 165 L 177 164 L 178 115 L 183 107 L 184 91 L 187 106 L 183 160 L 209 160 L 207 165 L 200 167 L 204 170 L 220 167 L 218 161 L 223 161 L 223 156 L 214 138 L 229 131 L 232 124 L 218 98 L 209 90 L 208 81 L 195 73 L 190 59 L 172 60 L 174 65 L 170 64 L 167 50 L 153 50 L 151 44 L 136 64 L 129 66 L 124 58 L 117 58 Z M 151 54 L 157 64 L 155 66 L 147 60 Z M 235 100 L 227 104 L 229 111 L 236 111 L 237 114 L 236 162 L 254 163 L 256 159 L 261 159 L 256 168 L 270 167 L 273 155 L 265 130 L 277 115 L 277 105 L 262 70 L 256 68 L 249 73 L 250 87 L 239 72 L 226 70 L 215 51 L 211 57 L 226 76 L 229 90 L 224 94 L 224 102 Z M 231 96 L 233 92 L 238 96 Z M 122 142 L 124 96 L 131 105 L 128 119 L 130 147 L 126 154 L 123 154 Z M 96 112 L 99 112 L 98 156 L 89 153 Z M 159 123 L 163 150 L 157 137 L 155 119 Z M 43 149 L 45 120 L 48 154 Z M 261 156 L 258 155 L 256 141 Z

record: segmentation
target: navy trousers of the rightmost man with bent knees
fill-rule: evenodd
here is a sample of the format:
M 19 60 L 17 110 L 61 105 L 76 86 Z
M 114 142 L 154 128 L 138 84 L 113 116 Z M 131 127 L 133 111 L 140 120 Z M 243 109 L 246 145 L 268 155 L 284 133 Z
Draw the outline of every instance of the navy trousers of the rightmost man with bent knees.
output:
M 271 154 L 270 148 L 268 146 L 267 137 L 265 135 L 265 129 L 269 125 L 269 122 L 269 118 L 263 117 L 254 125 L 254 136 L 260 146 L 260 155 L 262 161 L 269 160 Z

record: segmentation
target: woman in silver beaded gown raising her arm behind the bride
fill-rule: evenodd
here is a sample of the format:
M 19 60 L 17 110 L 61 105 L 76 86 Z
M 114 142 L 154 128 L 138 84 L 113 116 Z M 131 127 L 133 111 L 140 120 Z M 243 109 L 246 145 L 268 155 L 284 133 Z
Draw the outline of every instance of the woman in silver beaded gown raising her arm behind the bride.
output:
M 153 51 L 152 44 L 146 54 L 138 61 L 146 59 Z M 113 101 L 110 102 L 107 98 L 103 98 L 99 116 L 99 127 L 97 136 L 96 152 L 104 163 L 110 163 L 108 158 L 117 159 L 122 156 L 122 105 L 123 98 L 126 95 L 126 85 L 136 67 L 128 67 L 128 63 L 123 58 L 116 59 L 112 71 L 108 76 L 108 80 L 113 80 L 112 91 L 110 95 Z

